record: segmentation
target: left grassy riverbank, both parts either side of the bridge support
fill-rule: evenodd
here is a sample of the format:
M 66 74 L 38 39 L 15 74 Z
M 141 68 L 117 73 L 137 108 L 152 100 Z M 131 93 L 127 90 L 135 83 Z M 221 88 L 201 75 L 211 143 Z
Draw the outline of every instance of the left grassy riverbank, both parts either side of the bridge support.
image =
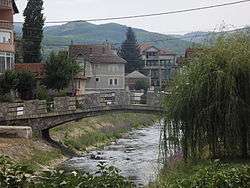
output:
M 62 125 L 52 129 L 50 134 L 53 139 L 82 154 L 120 138 L 133 128 L 150 126 L 156 120 L 156 115 L 109 113 Z M 38 138 L 0 138 L 0 155 L 29 164 L 35 170 L 57 166 L 67 159 L 59 149 Z

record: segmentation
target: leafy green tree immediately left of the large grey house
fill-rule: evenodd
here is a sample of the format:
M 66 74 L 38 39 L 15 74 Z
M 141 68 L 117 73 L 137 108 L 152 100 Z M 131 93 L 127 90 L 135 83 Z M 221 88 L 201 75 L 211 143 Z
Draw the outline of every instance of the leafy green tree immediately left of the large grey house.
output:
M 80 65 L 71 59 L 66 52 L 52 52 L 46 62 L 44 83 L 49 89 L 58 92 L 69 86 L 74 76 L 81 71 Z

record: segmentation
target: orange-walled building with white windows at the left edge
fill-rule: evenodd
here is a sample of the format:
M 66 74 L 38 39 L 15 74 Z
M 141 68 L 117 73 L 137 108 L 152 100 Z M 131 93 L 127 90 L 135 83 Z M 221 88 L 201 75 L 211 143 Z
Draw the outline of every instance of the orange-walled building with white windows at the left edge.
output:
M 13 15 L 16 13 L 18 9 L 14 0 L 0 0 L 0 74 L 14 68 Z

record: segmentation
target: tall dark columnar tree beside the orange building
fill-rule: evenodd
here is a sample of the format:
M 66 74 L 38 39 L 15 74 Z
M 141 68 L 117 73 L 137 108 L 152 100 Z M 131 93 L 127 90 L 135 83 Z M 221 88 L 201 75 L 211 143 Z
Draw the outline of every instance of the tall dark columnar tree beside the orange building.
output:
M 24 10 L 23 24 L 23 61 L 39 63 L 41 61 L 41 42 L 43 39 L 43 0 L 29 0 Z

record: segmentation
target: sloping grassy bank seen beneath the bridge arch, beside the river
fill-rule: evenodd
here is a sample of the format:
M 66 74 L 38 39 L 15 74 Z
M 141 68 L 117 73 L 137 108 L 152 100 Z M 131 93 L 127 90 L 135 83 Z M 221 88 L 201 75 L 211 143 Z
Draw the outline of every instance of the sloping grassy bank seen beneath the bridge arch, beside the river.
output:
M 137 113 L 109 113 L 71 122 L 50 131 L 54 140 L 82 153 L 114 141 L 133 128 L 152 125 L 157 116 Z

